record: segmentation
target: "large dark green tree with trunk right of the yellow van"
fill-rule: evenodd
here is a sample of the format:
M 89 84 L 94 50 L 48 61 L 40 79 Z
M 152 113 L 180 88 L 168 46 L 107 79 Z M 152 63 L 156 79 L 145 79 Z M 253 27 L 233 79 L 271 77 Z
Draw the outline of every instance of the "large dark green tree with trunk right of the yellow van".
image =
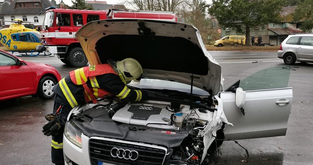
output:
M 283 5 L 281 0 L 213 0 L 208 13 L 224 28 L 245 33 L 246 45 L 250 45 L 250 31 L 270 22 L 279 22 Z

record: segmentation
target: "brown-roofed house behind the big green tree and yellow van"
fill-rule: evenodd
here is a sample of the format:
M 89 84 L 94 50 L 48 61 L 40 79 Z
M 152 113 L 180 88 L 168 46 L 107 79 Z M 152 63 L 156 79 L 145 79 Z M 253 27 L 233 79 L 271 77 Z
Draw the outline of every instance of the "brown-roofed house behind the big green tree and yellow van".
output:
M 269 23 L 264 26 L 255 27 L 250 31 L 250 44 L 252 39 L 257 42 L 258 37 L 262 37 L 263 43 L 271 45 L 280 45 L 289 34 L 302 33 L 300 30 L 301 22 L 295 22 L 292 14 L 295 12 L 296 7 L 284 7 L 280 12 L 280 23 Z M 224 28 L 222 29 L 222 37 L 228 35 L 245 35 L 237 33 L 235 29 Z

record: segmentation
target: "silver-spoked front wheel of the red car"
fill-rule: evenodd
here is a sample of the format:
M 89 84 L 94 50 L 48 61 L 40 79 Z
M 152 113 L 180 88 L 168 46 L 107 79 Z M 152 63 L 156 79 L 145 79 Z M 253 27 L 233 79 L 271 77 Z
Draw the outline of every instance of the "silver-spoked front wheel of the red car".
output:
M 37 94 L 41 99 L 51 99 L 56 94 L 52 91 L 52 89 L 56 85 L 56 80 L 50 76 L 44 76 L 40 79 L 38 84 Z

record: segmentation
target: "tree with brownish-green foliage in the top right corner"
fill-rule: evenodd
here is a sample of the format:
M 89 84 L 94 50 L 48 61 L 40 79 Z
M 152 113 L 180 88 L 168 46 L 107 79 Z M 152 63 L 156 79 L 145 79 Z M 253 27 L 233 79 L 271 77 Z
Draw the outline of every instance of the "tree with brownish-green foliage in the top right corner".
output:
M 313 28 L 313 0 L 304 0 L 298 3 L 293 18 L 302 22 L 300 29 L 304 32 L 312 32 Z

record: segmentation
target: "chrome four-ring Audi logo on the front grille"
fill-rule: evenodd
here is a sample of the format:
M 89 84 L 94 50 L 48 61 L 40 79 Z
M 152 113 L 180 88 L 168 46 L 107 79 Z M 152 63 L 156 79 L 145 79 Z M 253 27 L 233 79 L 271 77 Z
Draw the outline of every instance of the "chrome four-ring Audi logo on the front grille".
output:
M 111 156 L 124 158 L 126 160 L 136 160 L 139 157 L 138 151 L 114 147 L 111 149 Z

